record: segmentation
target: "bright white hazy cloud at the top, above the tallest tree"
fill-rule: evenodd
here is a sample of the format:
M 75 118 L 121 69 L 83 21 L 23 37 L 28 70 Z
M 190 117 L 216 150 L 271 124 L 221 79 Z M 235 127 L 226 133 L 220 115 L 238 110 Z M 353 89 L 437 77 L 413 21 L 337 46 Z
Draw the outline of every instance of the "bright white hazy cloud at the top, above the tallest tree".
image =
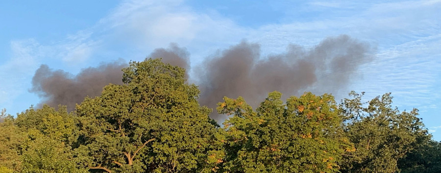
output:
M 216 44 L 244 35 L 243 29 L 231 20 L 197 13 L 179 0 L 124 1 L 98 27 L 111 28 L 110 37 L 139 49 L 163 47 L 171 42 L 183 46 Z

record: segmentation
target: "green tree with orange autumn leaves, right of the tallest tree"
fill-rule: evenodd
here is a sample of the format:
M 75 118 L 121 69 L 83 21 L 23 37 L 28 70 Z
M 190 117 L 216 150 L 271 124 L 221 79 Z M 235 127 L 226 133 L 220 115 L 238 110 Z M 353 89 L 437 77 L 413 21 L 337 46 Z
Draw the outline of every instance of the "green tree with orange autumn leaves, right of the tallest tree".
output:
M 242 97 L 224 97 L 219 113 L 232 114 L 224 123 L 227 140 L 225 171 L 338 172 L 344 147 L 341 119 L 331 95 L 305 93 L 286 105 L 281 93 L 253 109 Z

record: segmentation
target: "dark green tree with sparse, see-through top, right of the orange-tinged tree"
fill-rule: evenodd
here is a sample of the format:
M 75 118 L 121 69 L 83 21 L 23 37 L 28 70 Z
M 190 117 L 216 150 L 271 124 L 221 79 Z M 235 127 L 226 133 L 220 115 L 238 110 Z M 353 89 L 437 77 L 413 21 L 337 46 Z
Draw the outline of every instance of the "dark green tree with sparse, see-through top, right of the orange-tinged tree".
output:
M 367 103 L 361 102 L 363 93 L 350 95 L 353 99 L 344 99 L 341 108 L 346 135 L 356 151 L 346 157 L 343 172 L 397 172 L 397 161 L 430 138 L 417 118 L 418 110 L 392 108 L 390 93 Z

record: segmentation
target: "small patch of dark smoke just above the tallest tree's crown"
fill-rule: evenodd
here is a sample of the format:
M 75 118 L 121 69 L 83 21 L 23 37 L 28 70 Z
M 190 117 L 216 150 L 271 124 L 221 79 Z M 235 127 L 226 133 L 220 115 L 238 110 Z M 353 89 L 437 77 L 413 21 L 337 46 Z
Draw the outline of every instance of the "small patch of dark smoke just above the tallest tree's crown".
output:
M 189 57 L 190 53 L 185 47 L 179 47 L 176 43 L 170 43 L 169 48 L 157 48 L 148 56 L 150 58 L 162 58 L 162 62 L 175 66 L 180 66 L 190 70 Z

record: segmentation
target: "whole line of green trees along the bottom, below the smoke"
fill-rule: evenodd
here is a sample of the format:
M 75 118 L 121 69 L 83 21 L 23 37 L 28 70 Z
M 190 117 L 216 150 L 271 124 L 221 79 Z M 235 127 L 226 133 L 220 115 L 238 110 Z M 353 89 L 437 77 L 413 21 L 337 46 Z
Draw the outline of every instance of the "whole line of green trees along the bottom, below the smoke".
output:
M 159 59 L 130 62 L 123 85 L 109 84 L 75 111 L 29 108 L 0 119 L 0 173 L 439 173 L 441 144 L 418 110 L 392 107 L 390 93 L 363 102 L 351 92 L 274 91 L 251 108 L 223 98 L 198 103 L 183 68 Z

